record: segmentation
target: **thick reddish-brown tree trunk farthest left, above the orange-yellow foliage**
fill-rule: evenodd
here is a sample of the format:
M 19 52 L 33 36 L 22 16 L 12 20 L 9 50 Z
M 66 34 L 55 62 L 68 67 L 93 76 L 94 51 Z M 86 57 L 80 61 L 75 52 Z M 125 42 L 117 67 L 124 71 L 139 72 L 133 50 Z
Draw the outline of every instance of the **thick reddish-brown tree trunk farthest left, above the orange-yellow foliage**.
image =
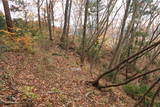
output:
M 4 12 L 5 12 L 7 30 L 8 32 L 13 32 L 13 24 L 12 24 L 8 0 L 2 0 L 2 2 L 3 2 Z

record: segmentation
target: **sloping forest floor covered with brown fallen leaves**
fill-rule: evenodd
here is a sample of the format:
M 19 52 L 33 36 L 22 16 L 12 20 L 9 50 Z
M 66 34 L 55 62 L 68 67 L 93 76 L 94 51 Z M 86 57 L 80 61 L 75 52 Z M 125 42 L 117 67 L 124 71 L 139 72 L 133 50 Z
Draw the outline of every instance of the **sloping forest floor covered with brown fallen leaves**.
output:
M 87 85 L 86 81 L 93 80 L 89 64 L 81 67 L 76 52 L 51 44 L 46 47 L 40 42 L 34 54 L 3 55 L 6 63 L 0 60 L 0 75 L 3 71 L 8 75 L 1 80 L 0 107 L 132 107 L 135 103 L 121 88 L 101 92 Z M 16 104 L 9 104 L 13 102 Z

